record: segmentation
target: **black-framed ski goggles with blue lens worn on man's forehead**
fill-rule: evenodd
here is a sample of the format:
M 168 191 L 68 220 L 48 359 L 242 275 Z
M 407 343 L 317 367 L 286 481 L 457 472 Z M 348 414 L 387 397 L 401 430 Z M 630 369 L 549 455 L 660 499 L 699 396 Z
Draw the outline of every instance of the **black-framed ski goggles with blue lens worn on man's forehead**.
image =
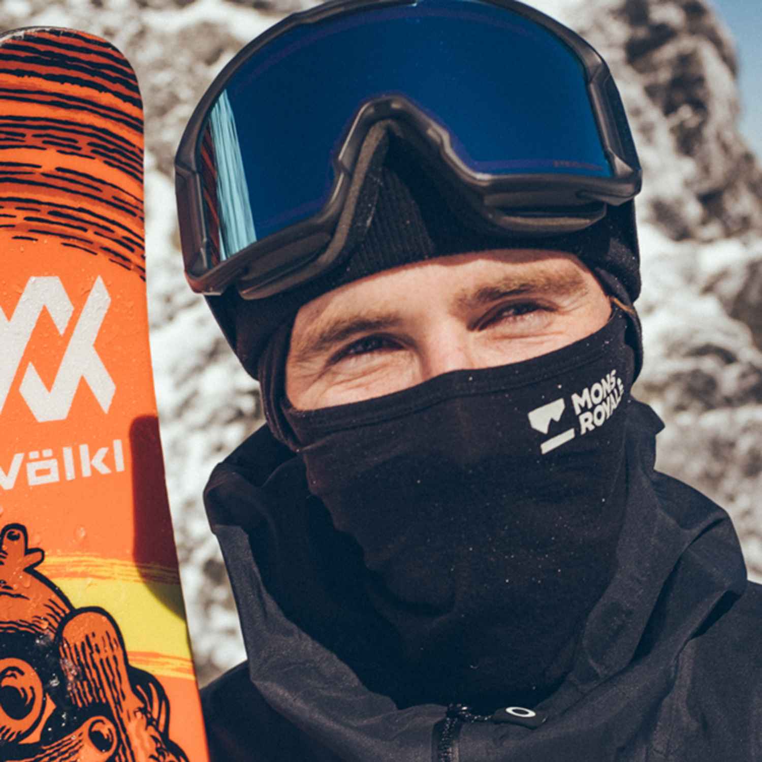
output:
M 640 189 L 609 69 L 562 24 L 514 0 L 328 3 L 249 43 L 188 123 L 175 176 L 191 287 L 258 299 L 341 261 L 384 121 L 488 232 L 575 232 Z

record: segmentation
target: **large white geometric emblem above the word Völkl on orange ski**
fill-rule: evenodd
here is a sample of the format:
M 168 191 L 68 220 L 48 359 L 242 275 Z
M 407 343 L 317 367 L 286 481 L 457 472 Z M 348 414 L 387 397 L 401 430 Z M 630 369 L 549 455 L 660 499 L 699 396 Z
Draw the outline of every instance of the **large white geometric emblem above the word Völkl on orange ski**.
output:
M 111 298 L 99 276 L 88 294 L 50 389 L 34 365 L 28 363 L 19 391 L 37 421 L 64 420 L 69 415 L 80 379 L 85 379 L 98 405 L 104 413 L 108 412 L 117 387 L 98 357 L 94 342 L 110 303 Z M 10 319 L 0 309 L 0 347 L 5 355 L 0 364 L 0 413 L 43 309 L 47 309 L 59 334 L 63 335 L 74 307 L 58 277 L 30 278 Z

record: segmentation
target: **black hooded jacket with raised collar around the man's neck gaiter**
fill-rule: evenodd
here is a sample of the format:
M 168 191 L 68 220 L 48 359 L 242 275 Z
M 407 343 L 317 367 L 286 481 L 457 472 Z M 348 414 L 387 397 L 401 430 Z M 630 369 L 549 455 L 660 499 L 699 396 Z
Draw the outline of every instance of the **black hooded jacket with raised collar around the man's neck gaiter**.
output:
M 331 652 L 331 626 L 310 635 L 299 626 L 303 610 L 330 610 L 331 596 L 309 554 L 299 461 L 266 428 L 256 432 L 205 495 L 248 653 L 203 690 L 213 760 L 762 760 L 762 588 L 746 581 L 725 511 L 653 469 L 660 428 L 632 403 L 627 464 L 638 499 L 618 570 L 571 672 L 535 707 L 528 724 L 538 727 L 511 712 L 398 709 Z M 332 629 L 351 634 L 351 623 Z

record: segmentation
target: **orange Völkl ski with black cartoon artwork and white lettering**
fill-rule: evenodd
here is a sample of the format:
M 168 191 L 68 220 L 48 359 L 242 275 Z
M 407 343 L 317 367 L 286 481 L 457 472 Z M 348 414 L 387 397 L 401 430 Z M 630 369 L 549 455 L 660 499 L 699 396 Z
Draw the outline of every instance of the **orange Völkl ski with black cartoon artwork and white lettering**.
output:
M 207 759 L 148 343 L 142 104 L 0 36 L 0 759 Z

